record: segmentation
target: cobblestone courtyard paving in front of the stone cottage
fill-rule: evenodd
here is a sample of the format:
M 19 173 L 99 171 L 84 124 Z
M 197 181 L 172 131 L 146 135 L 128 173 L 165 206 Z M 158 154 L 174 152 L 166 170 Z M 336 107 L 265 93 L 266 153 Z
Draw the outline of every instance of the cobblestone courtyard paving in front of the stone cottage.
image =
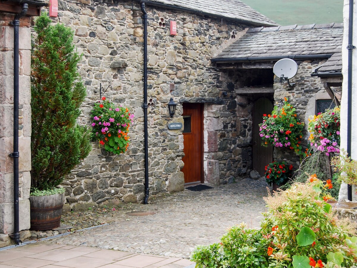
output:
M 218 242 L 226 230 L 246 222 L 258 227 L 265 211 L 265 179 L 243 179 L 201 192 L 184 190 L 148 205 L 128 204 L 103 227 L 52 239 L 52 243 L 86 245 L 134 253 L 189 258 L 196 245 Z M 132 211 L 154 215 L 131 216 Z

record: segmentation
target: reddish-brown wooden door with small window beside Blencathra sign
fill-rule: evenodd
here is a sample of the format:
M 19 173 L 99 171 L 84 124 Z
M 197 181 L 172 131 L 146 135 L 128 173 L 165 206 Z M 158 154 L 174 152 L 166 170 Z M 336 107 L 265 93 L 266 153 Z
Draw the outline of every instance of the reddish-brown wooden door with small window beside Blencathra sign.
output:
M 185 164 L 182 172 L 185 183 L 203 181 L 203 105 L 183 104 L 183 152 Z

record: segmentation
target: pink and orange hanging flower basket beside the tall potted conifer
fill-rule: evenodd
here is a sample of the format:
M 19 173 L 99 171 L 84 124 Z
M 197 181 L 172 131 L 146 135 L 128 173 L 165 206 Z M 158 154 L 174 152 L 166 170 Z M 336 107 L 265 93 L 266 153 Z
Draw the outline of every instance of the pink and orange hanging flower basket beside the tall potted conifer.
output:
M 115 106 L 106 100 L 98 101 L 92 110 L 92 134 L 108 152 L 124 153 L 129 147 L 129 126 L 134 114 L 121 105 Z

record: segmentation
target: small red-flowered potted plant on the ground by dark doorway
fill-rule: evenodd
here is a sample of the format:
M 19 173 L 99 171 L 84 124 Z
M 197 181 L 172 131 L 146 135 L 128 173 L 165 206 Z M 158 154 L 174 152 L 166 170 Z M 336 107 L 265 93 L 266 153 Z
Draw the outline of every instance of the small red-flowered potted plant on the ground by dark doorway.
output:
M 292 165 L 288 165 L 285 161 L 272 162 L 265 166 L 265 178 L 269 185 L 276 183 L 281 185 L 292 172 Z

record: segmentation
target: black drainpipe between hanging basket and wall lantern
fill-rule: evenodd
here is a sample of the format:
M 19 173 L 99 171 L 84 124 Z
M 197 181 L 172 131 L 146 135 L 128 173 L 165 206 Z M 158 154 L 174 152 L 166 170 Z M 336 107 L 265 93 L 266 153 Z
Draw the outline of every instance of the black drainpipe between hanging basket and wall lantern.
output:
M 145 157 L 145 198 L 144 204 L 149 199 L 149 153 L 147 145 L 147 13 L 145 11 L 145 1 L 140 1 L 142 18 L 144 19 L 144 157 Z

